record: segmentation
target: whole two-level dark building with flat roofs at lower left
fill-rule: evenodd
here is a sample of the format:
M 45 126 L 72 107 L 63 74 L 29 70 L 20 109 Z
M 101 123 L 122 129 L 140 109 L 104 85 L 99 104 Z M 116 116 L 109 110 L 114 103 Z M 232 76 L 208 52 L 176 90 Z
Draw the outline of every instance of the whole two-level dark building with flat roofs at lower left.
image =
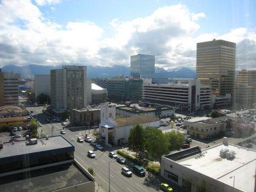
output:
M 3 143 L 1 191 L 95 191 L 94 177 L 62 136 Z

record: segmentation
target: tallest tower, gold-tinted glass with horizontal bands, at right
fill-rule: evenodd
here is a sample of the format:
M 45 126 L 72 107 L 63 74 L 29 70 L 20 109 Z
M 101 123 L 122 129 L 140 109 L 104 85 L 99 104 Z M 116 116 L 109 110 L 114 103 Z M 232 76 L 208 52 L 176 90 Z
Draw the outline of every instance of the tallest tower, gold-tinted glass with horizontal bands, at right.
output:
M 236 44 L 212 40 L 196 44 L 196 79 L 212 86 L 214 95 L 234 96 Z

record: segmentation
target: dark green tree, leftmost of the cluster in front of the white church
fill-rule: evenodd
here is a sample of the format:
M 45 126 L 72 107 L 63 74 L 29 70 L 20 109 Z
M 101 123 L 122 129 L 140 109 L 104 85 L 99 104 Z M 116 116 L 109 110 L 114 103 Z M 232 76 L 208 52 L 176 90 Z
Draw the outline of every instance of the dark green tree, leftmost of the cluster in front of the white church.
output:
M 144 130 L 141 125 L 137 124 L 130 130 L 127 147 L 129 150 L 134 150 L 137 153 L 145 149 Z

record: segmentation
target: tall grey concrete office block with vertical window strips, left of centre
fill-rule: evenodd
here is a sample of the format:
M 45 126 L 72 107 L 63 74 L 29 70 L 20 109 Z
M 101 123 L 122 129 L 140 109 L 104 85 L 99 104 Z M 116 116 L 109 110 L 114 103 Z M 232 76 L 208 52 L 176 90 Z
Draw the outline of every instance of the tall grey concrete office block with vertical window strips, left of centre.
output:
M 67 65 L 51 70 L 51 105 L 56 112 L 87 106 L 86 67 Z

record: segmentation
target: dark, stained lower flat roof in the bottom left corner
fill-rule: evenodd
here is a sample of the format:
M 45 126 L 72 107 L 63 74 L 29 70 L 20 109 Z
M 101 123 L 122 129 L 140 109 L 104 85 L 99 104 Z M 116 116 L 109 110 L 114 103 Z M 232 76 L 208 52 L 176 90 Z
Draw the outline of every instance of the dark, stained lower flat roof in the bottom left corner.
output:
M 1 191 L 56 191 L 92 180 L 75 163 L 0 177 Z

